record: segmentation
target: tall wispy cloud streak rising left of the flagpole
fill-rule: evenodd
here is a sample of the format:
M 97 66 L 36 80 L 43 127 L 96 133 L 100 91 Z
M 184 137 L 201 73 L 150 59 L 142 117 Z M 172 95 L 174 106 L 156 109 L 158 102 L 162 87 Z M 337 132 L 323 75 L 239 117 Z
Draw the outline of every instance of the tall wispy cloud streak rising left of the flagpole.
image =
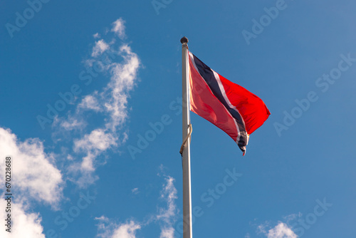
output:
M 95 34 L 98 40 L 95 41 L 92 58 L 86 61 L 89 67 L 100 68 L 97 73 L 110 76 L 110 81 L 101 90 L 83 96 L 73 113 L 69 112 L 66 118 L 56 118 L 56 123 L 53 123 L 56 129 L 53 135 L 61 134 L 58 131 L 73 130 L 70 135 L 73 140 L 73 162 L 68 171 L 73 177 L 70 180 L 77 182 L 80 187 L 86 187 L 98 179 L 95 175 L 97 158 L 127 140 L 127 128 L 123 126 L 129 116 L 127 100 L 137 82 L 141 63 L 128 44 L 120 43 L 117 46 L 118 43 L 115 43 L 117 36 L 125 38 L 125 21 L 120 18 L 112 23 L 112 32 L 114 36 L 109 36 L 107 32 L 103 38 Z M 111 58 L 105 56 L 105 53 Z M 100 115 L 102 123 L 100 125 L 97 121 L 96 128 L 85 131 L 83 128 L 89 125 L 90 119 L 86 115 L 90 115 L 90 111 Z M 77 129 L 80 129 L 80 133 Z

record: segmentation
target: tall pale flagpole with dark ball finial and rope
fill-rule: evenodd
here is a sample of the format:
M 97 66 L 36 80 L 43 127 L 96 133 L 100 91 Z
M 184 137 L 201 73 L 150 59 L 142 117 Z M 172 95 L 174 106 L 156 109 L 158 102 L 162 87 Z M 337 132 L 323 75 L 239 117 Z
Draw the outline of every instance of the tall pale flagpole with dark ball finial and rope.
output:
M 188 38 L 181 38 L 182 43 L 182 108 L 183 108 L 183 124 L 182 135 L 184 150 L 182 151 L 182 167 L 183 167 L 183 238 L 192 238 L 192 189 L 190 182 L 190 138 L 189 134 L 190 116 L 189 116 L 189 77 L 187 71 L 187 49 Z

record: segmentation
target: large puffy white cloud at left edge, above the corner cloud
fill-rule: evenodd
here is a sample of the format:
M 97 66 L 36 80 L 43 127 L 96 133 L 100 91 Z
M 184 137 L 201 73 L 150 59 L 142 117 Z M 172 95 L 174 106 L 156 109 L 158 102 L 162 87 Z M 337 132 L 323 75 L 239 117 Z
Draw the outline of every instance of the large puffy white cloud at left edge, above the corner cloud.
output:
M 0 128 L 0 152 L 1 157 L 12 156 L 14 181 L 23 197 L 58 208 L 63 191 L 62 175 L 53 164 L 53 156 L 44 152 L 40 140 L 21 142 L 11 130 Z M 4 171 L 4 163 L 0 163 L 0 171 Z M 0 182 L 4 183 L 3 176 Z

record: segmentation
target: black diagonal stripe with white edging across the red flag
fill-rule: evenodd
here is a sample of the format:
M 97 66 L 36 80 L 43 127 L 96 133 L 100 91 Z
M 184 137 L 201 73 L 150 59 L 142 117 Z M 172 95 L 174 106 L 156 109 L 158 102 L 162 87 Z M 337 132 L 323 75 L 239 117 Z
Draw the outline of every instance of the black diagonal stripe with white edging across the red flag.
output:
M 245 128 L 245 123 L 244 119 L 241 117 L 241 114 L 239 113 L 239 110 L 234 107 L 234 105 L 231 104 L 229 101 L 229 98 L 227 98 L 224 87 L 221 84 L 219 75 L 216 73 L 214 74 L 214 71 L 209 68 L 209 66 L 206 66 L 202 61 L 197 58 L 197 56 L 194 56 L 192 53 L 189 52 L 189 56 L 192 59 L 192 62 L 194 63 L 194 67 L 196 67 L 197 71 L 199 72 L 201 78 L 204 79 L 206 84 L 209 86 L 211 89 L 211 92 L 216 96 L 216 98 L 219 99 L 219 101 L 224 105 L 224 107 L 229 110 L 229 113 L 234 117 L 237 123 L 237 128 L 239 131 L 238 138 L 236 139 L 236 143 L 239 145 L 241 150 L 246 150 L 245 145 L 247 145 L 248 142 L 248 135 L 246 133 L 246 128 Z M 217 76 L 217 78 L 216 78 Z M 220 83 L 220 86 L 219 86 Z M 225 93 L 225 95 L 224 95 Z

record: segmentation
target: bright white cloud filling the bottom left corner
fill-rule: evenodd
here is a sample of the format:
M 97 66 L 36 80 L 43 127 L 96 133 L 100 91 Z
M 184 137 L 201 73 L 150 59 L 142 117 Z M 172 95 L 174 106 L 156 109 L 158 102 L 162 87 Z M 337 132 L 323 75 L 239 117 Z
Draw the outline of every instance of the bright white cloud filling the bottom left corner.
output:
M 1 195 L 0 207 L 6 207 L 6 201 Z M 7 227 L 4 226 L 6 212 L 0 212 L 1 223 L 0 237 L 2 238 L 45 238 L 43 227 L 41 225 L 41 217 L 38 213 L 26 212 L 26 207 L 14 201 L 11 201 L 11 233 L 6 232 Z

